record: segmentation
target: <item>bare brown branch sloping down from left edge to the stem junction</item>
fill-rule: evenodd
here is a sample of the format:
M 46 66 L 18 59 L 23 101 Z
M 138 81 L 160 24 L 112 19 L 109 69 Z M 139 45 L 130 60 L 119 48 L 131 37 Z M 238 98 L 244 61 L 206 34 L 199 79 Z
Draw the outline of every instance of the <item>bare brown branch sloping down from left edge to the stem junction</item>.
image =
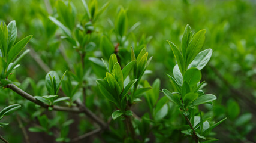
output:
M 49 105 L 44 104 L 41 101 L 38 101 L 32 95 L 26 93 L 25 91 L 22 91 L 22 89 L 18 88 L 16 85 L 9 84 L 9 85 L 7 85 L 7 88 L 10 88 L 12 91 L 16 92 L 20 96 L 26 98 L 29 101 L 34 102 L 37 105 L 40 105 L 41 107 L 44 107 L 44 108 L 48 108 L 49 107 Z M 82 112 L 77 107 L 63 107 L 63 106 L 58 106 L 58 105 L 53 106 L 53 110 L 56 110 L 56 111 L 68 111 L 68 112 L 73 112 L 73 113 L 81 113 Z

